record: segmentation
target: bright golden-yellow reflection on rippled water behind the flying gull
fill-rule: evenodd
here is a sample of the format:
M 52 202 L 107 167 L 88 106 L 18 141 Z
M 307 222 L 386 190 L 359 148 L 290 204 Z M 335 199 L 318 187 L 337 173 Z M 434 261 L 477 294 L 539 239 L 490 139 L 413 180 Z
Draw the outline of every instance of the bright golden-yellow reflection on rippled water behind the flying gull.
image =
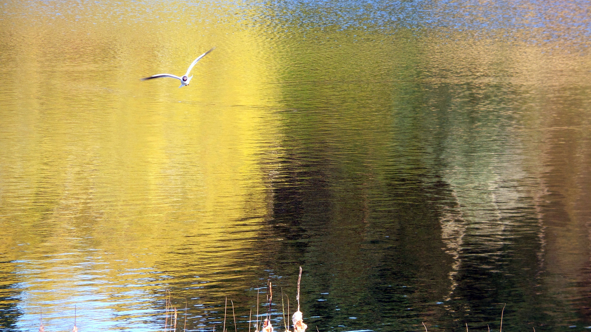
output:
M 213 7 L 158 22 L 154 13 L 179 8 L 137 4 L 117 16 L 98 2 L 37 5 L 12 4 L 22 15 L 1 23 L 0 252 L 29 304 L 108 294 L 145 269 L 182 279 L 255 265 L 245 262 L 270 214 L 268 147 L 280 139 L 267 111 L 276 66 L 261 52 L 271 46 L 212 24 Z M 139 80 L 182 74 L 211 47 L 190 86 Z M 85 274 L 95 289 L 74 277 Z M 162 287 L 141 292 L 152 284 Z

